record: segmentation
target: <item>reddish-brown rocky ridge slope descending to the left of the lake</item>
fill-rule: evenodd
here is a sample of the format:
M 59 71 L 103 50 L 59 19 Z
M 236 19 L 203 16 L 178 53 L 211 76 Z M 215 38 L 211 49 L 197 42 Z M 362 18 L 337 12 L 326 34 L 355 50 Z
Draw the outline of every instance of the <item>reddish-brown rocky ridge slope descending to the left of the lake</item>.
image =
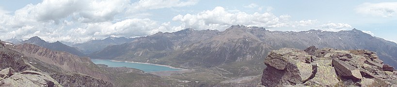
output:
M 108 76 L 90 58 L 79 57 L 63 51 L 52 51 L 45 47 L 26 43 L 16 45 L 16 49 L 27 56 L 37 58 L 48 64 L 54 64 L 65 71 L 87 74 L 110 81 Z

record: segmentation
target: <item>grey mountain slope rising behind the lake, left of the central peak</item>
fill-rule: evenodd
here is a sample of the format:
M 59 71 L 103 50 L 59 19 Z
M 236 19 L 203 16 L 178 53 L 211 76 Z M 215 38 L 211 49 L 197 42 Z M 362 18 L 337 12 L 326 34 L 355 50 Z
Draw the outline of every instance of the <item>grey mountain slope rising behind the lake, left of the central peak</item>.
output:
M 184 29 L 177 32 L 158 32 L 154 35 L 135 38 L 131 43 L 111 45 L 90 55 L 101 59 L 149 59 L 163 58 L 167 54 L 183 50 L 186 46 L 218 35 L 217 30 Z

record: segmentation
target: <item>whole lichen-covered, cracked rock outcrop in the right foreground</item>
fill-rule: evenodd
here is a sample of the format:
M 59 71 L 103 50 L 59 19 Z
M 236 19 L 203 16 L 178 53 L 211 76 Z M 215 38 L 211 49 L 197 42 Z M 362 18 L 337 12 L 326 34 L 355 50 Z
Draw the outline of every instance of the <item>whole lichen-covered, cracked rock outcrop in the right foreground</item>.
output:
M 397 71 L 368 50 L 282 48 L 264 61 L 262 85 L 396 87 Z

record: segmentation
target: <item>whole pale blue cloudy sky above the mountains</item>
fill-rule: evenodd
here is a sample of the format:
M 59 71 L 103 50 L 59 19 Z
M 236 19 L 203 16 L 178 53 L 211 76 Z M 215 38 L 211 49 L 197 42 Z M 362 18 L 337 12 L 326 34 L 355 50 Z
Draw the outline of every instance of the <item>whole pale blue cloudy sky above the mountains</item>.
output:
M 0 0 L 0 40 L 83 43 L 232 25 L 268 30 L 362 30 L 397 41 L 393 0 Z

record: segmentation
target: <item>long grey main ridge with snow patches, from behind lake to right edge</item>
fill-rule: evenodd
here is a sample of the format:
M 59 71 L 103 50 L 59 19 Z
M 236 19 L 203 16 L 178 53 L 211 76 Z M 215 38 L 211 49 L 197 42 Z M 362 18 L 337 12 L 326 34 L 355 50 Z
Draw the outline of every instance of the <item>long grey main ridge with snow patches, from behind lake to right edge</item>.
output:
M 161 59 L 164 61 L 153 61 L 153 63 L 167 64 L 165 62 L 171 61 L 179 66 L 218 66 L 240 61 L 256 62 L 263 59 L 271 50 L 284 47 L 304 49 L 314 45 L 320 48 L 344 50 L 368 49 L 377 52 L 386 64 L 397 66 L 396 43 L 373 37 L 357 29 L 338 32 L 313 29 L 293 32 L 269 31 L 264 28 L 237 25 L 222 32 L 217 30 L 186 32 L 189 30 L 191 29 L 172 33 L 159 32 L 137 38 L 131 43 L 106 47 L 90 56 L 141 62 Z

